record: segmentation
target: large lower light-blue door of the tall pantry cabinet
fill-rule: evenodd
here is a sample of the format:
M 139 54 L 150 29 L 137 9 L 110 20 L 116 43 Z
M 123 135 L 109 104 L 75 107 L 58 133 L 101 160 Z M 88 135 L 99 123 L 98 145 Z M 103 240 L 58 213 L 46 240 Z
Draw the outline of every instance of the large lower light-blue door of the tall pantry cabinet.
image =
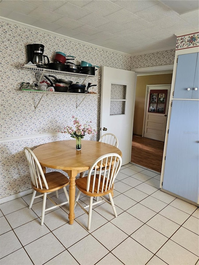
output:
M 197 202 L 199 101 L 173 100 L 163 189 Z

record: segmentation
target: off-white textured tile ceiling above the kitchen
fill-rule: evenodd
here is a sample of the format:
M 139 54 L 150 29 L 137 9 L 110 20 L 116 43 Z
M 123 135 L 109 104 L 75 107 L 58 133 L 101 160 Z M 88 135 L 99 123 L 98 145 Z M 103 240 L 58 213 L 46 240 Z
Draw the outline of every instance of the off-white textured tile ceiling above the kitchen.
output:
M 2 0 L 0 15 L 134 55 L 174 48 L 175 33 L 197 30 L 199 11 L 190 9 L 198 1 L 188 2 L 187 13 L 179 15 L 156 0 Z

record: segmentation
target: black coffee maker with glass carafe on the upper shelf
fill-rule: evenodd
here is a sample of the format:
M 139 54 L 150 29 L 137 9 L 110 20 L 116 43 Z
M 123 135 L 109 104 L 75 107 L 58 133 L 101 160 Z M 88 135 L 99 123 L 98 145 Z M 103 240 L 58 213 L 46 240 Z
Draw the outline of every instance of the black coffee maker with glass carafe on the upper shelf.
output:
M 32 62 L 36 64 L 38 67 L 47 67 L 49 65 L 49 58 L 44 53 L 44 45 L 43 44 L 28 44 L 28 62 Z M 47 62 L 45 61 L 45 58 Z

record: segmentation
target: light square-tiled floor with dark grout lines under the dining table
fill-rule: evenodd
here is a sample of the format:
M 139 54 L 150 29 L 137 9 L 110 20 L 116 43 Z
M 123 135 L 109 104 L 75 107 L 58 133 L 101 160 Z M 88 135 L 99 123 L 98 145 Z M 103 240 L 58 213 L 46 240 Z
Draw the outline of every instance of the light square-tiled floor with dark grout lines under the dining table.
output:
M 91 230 L 80 207 L 69 225 L 68 207 L 47 213 L 31 194 L 0 205 L 0 264 L 199 264 L 198 207 L 160 191 L 160 174 L 129 163 L 114 185 L 115 218 L 108 203 L 96 205 Z M 55 194 L 52 194 L 54 196 Z M 60 190 L 57 201 L 64 194 Z M 88 199 L 81 194 L 82 203 Z

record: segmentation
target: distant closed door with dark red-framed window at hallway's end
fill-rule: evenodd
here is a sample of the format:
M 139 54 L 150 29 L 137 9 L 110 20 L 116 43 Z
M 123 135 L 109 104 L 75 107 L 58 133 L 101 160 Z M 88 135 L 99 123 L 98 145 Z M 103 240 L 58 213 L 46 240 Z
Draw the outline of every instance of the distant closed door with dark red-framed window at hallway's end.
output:
M 147 85 L 144 137 L 164 142 L 171 85 Z

